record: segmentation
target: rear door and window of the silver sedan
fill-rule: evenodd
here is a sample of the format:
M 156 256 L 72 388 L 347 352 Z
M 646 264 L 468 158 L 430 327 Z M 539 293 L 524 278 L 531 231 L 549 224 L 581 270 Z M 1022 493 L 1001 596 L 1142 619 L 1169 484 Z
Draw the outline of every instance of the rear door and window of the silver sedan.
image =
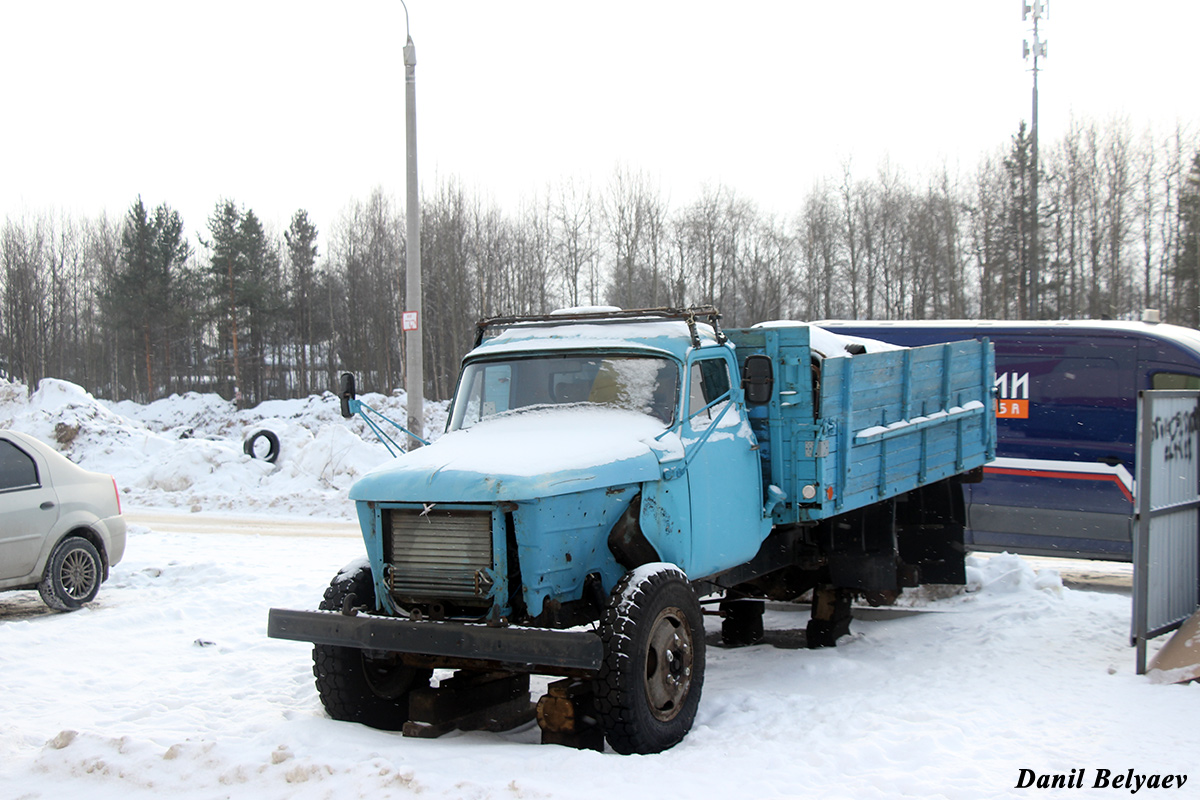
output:
M 0 581 L 34 570 L 58 522 L 58 497 L 46 473 L 32 453 L 0 439 Z

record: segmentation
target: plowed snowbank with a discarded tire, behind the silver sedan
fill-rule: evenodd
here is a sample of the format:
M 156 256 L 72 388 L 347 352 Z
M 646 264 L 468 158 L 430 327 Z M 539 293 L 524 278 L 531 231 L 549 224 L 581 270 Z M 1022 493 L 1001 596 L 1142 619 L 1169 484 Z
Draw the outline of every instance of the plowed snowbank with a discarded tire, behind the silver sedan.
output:
M 389 419 L 407 419 L 403 392 L 361 399 Z M 425 408 L 426 438 L 437 438 L 446 404 Z M 391 459 L 360 419 L 342 419 L 330 392 L 239 411 L 216 395 L 188 392 L 139 405 L 98 401 L 65 380 L 42 380 L 32 395 L 4 381 L 0 427 L 35 435 L 85 469 L 112 474 L 127 505 L 192 511 L 349 518 L 350 485 Z M 258 431 L 280 440 L 274 464 L 244 451 Z

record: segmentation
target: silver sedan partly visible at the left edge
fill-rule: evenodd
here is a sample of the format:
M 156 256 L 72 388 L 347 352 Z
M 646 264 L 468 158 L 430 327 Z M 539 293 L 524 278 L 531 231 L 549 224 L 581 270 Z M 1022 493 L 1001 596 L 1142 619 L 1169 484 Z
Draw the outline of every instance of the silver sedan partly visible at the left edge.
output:
M 0 590 L 37 589 L 50 608 L 74 610 L 95 600 L 124 554 L 113 476 L 0 431 Z

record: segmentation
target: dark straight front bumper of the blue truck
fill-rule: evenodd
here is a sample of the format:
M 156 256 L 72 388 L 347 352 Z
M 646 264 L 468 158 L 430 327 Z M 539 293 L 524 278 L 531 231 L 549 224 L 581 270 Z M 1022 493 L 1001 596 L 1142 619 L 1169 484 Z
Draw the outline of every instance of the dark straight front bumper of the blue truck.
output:
M 594 672 L 604 660 L 604 645 L 592 631 L 413 621 L 370 614 L 350 616 L 338 612 L 272 608 L 266 634 L 275 639 L 362 650 L 490 661 L 522 672 L 548 674 Z

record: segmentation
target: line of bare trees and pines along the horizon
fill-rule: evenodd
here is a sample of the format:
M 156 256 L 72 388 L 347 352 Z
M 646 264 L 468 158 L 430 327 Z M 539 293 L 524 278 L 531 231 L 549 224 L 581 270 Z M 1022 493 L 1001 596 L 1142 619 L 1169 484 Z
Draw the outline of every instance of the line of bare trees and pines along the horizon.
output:
M 505 210 L 456 179 L 421 199 L 426 396 L 454 391 L 481 317 L 563 306 L 716 305 L 766 319 L 1130 319 L 1200 326 L 1200 142 L 1076 122 L 1039 148 L 1024 125 L 968 174 L 883 163 L 761 211 L 727 186 L 673 206 L 643 172 L 564 180 Z M 1031 258 L 1037 227 L 1037 258 Z M 194 237 L 169 205 L 5 221 L 0 368 L 149 402 L 215 391 L 256 404 L 403 385 L 403 209 L 350 201 L 320 236 L 216 203 Z

